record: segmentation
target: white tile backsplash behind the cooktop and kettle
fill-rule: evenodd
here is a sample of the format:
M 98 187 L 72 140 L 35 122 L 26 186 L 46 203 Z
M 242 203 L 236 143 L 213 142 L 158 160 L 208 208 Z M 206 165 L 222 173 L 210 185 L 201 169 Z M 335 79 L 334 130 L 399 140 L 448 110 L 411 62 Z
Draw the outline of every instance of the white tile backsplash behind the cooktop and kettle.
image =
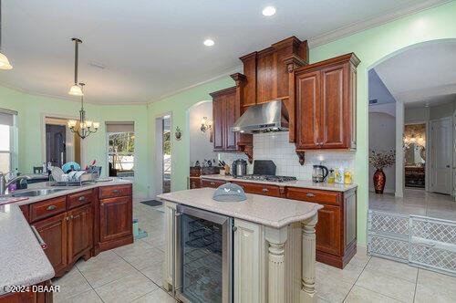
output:
M 239 158 L 247 160 L 244 153 L 219 153 L 219 159 L 229 165 Z M 306 151 L 306 162 L 299 164 L 295 143 L 288 141 L 288 131 L 255 134 L 254 160 L 272 160 L 277 166 L 277 175 L 294 176 L 299 180 L 311 180 L 313 165 L 320 162 L 328 169 L 342 166 L 355 174 L 354 151 Z M 249 164 L 248 173 L 252 172 L 253 165 Z

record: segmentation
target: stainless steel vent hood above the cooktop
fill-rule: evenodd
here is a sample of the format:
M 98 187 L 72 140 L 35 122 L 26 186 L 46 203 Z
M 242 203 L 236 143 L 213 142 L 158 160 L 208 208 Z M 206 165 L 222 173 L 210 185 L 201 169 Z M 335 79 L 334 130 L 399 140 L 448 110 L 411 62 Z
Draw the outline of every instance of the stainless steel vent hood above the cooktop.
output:
M 282 100 L 249 106 L 234 122 L 232 131 L 257 133 L 266 131 L 288 131 L 288 111 Z

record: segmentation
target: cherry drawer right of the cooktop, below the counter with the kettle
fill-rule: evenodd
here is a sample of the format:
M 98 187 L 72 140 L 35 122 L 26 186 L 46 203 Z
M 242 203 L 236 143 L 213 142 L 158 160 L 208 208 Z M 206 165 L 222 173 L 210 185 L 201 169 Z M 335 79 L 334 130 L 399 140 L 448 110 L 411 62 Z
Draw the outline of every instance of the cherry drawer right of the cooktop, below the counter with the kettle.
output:
M 342 201 L 342 193 L 287 187 L 286 198 L 306 202 L 340 205 Z

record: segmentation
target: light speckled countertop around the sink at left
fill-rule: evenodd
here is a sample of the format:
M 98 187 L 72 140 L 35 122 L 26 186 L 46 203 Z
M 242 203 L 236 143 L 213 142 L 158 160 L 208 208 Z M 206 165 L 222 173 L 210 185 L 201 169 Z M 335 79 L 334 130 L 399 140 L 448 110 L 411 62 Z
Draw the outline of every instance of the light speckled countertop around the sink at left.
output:
M 54 268 L 19 208 L 21 204 L 55 198 L 69 193 L 78 193 L 100 186 L 129 184 L 130 181 L 114 179 L 110 182 L 91 183 L 83 186 L 64 187 L 57 193 L 31 197 L 14 204 L 0 205 L 0 295 L 7 286 L 32 286 L 54 277 Z M 33 183 L 28 189 L 62 188 L 49 183 Z M 23 190 L 26 191 L 26 190 Z M 18 191 L 17 191 L 18 192 Z

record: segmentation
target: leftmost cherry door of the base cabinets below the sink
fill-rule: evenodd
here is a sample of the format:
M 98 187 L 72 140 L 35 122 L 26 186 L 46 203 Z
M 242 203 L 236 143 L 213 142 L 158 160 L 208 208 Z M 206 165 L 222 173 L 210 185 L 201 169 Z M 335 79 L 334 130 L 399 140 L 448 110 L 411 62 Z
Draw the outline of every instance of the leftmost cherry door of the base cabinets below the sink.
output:
M 67 213 L 51 216 L 34 225 L 46 242 L 46 256 L 58 273 L 67 266 Z

